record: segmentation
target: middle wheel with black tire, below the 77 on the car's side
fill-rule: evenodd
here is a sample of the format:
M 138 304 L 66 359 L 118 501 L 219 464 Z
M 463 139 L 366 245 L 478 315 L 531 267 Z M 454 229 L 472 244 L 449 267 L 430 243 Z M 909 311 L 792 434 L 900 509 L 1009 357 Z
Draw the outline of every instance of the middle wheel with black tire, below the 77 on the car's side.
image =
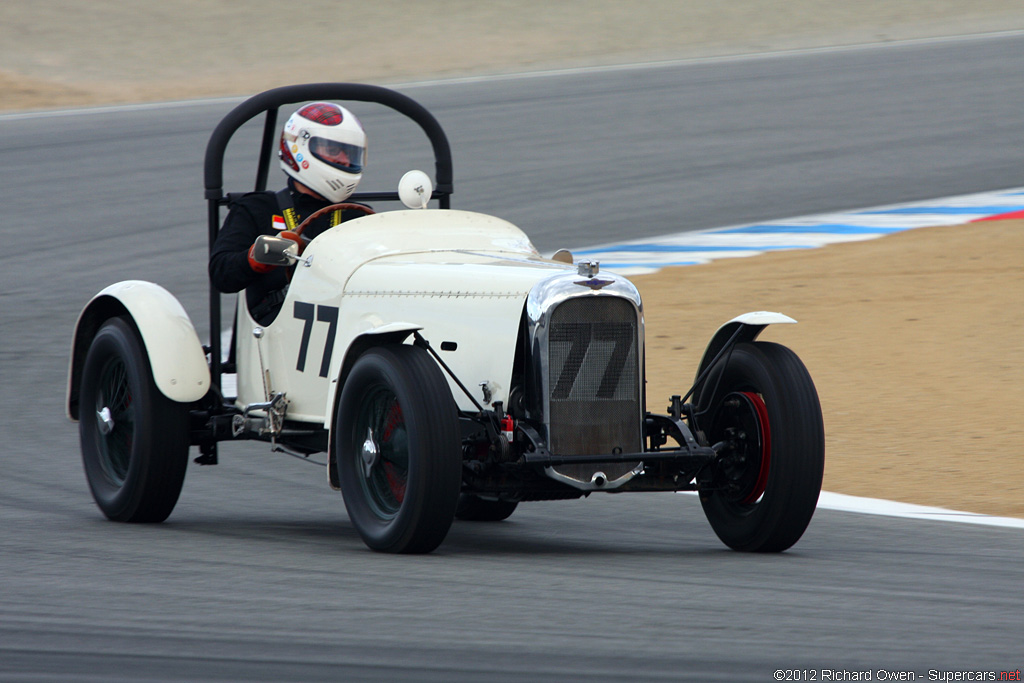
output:
M 433 358 L 416 346 L 355 361 L 335 416 L 335 460 L 364 543 L 429 553 L 444 540 L 462 487 L 459 414 Z

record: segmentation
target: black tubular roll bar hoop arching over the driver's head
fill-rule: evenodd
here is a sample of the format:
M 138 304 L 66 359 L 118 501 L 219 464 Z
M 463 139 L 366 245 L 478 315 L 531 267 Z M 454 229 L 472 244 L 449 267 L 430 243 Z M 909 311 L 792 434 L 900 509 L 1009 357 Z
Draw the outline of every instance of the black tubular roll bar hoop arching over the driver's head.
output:
M 441 209 L 451 208 L 454 191 L 452 178 L 452 150 L 447 136 L 440 124 L 422 104 L 399 92 L 377 85 L 360 83 L 306 83 L 273 88 L 253 95 L 227 113 L 210 135 L 204 162 L 204 186 L 206 188 L 207 218 L 209 228 L 209 251 L 220 231 L 220 207 L 228 202 L 224 195 L 224 152 L 227 143 L 243 125 L 265 114 L 263 137 L 260 144 L 259 164 L 256 169 L 254 191 L 266 189 L 267 176 L 274 158 L 278 135 L 278 112 L 285 104 L 296 104 L 313 100 L 347 100 L 373 102 L 388 106 L 416 122 L 426 133 L 434 152 L 434 190 L 430 196 L 437 200 Z M 399 201 L 397 191 L 355 193 L 354 202 Z M 220 389 L 220 292 L 210 286 L 210 374 L 217 389 Z

